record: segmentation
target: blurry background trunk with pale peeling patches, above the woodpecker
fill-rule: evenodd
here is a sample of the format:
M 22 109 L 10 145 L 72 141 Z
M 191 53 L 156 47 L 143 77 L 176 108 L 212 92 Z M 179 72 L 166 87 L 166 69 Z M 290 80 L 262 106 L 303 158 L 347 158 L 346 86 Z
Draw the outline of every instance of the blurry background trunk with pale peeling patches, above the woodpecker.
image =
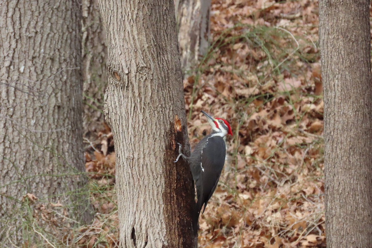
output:
M 208 53 L 211 0 L 175 0 L 182 73 L 189 75 Z

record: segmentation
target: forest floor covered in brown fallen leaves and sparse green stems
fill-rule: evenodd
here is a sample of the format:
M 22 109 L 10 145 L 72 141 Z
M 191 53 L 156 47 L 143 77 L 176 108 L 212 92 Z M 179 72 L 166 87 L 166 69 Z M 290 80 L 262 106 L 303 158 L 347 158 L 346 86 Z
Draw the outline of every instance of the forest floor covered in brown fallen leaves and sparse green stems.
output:
M 199 247 L 325 247 L 318 3 L 212 0 L 211 49 L 184 81 L 190 144 L 230 122 L 228 160 L 201 215 Z M 116 247 L 112 134 L 86 152 L 97 211 L 82 247 Z

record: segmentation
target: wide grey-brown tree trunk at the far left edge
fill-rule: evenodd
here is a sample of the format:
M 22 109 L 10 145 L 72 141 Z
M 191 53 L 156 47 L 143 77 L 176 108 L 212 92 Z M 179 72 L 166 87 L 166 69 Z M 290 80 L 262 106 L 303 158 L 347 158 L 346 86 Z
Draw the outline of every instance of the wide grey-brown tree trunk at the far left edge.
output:
M 41 221 L 25 214 L 32 194 L 38 203 L 59 201 L 68 218 L 90 219 L 89 194 L 80 189 L 86 183 L 80 7 L 79 1 L 0 1 L 2 245 L 26 242 L 30 226 Z

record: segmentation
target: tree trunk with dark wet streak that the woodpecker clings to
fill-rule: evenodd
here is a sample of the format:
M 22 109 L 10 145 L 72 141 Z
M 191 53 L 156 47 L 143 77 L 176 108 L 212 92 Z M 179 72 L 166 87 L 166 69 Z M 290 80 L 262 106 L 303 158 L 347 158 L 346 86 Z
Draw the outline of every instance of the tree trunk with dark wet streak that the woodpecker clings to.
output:
M 176 142 L 189 147 L 173 0 L 99 4 L 108 44 L 105 113 L 116 151 L 119 247 L 196 247 L 190 168 L 173 163 Z

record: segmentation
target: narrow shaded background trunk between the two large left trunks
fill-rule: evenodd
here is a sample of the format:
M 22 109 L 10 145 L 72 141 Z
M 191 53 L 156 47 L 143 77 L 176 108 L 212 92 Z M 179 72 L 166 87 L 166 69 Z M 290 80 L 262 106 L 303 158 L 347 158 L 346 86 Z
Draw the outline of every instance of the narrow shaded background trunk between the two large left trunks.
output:
M 91 139 L 102 128 L 103 96 L 107 85 L 107 46 L 97 0 L 83 0 L 84 136 Z M 93 140 L 92 140 L 93 142 Z

